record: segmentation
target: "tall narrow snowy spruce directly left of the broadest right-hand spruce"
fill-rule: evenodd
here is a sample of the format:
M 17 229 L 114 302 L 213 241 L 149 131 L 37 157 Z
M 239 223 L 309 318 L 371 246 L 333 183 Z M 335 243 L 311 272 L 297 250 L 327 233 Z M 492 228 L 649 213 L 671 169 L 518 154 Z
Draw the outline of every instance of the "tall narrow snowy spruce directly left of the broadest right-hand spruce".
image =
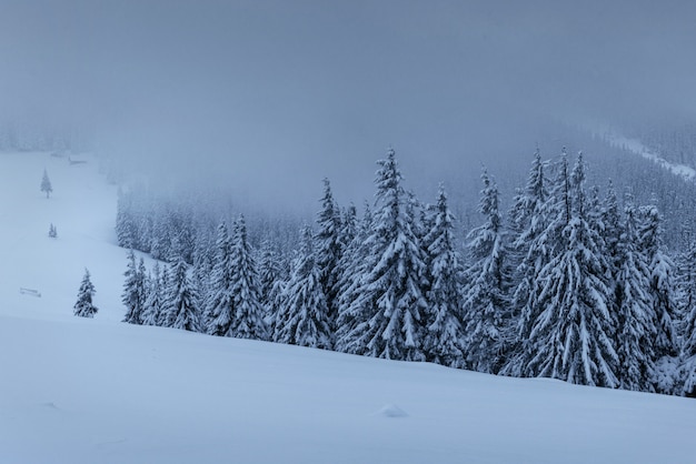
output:
M 549 182 L 546 178 L 547 163 L 541 161 L 539 150 L 535 152 L 527 185 L 518 191 L 510 210 L 510 264 L 516 286 L 511 295 L 511 335 L 515 346 L 501 373 L 513 376 L 530 375 L 525 372 L 525 357 L 530 354 L 528 344 L 539 306 L 536 297 L 541 282 L 537 279 L 551 256 L 550 238 L 546 233 L 553 205 Z

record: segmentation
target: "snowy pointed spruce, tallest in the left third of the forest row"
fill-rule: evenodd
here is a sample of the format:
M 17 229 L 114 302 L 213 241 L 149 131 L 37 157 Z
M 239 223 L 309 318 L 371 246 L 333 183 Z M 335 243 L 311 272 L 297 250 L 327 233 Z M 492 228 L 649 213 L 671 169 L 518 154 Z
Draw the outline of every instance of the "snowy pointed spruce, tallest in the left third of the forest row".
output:
M 230 284 L 235 307 L 230 327 L 232 335 L 239 339 L 268 340 L 268 326 L 264 320 L 264 307 L 260 302 L 259 276 L 247 238 L 247 223 L 241 214 L 235 224 L 230 262 Z

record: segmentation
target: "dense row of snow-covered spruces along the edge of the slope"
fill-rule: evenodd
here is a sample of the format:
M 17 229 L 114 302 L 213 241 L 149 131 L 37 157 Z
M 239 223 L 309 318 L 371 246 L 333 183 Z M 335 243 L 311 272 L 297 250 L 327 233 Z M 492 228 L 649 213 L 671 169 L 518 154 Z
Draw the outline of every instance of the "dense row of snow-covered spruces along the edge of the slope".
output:
M 315 226 L 249 240 L 121 192 L 125 322 L 576 384 L 690 394 L 696 245 L 670 255 L 655 205 L 588 186 L 583 154 L 534 157 L 507 214 L 487 170 L 460 245 L 443 185 L 424 204 L 394 150 L 359 215 L 324 182 Z M 619 199 L 619 196 L 622 196 Z M 147 205 L 147 206 L 143 206 Z M 296 232 L 295 232 L 296 233 Z M 132 249 L 166 264 L 146 270 Z

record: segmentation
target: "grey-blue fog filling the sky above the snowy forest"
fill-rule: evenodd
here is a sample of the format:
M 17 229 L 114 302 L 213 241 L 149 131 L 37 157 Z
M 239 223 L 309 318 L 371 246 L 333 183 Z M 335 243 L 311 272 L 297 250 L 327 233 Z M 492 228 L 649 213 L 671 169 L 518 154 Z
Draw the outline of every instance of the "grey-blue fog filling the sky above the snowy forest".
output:
M 0 0 L 0 112 L 249 201 L 527 165 L 558 121 L 692 118 L 696 3 Z

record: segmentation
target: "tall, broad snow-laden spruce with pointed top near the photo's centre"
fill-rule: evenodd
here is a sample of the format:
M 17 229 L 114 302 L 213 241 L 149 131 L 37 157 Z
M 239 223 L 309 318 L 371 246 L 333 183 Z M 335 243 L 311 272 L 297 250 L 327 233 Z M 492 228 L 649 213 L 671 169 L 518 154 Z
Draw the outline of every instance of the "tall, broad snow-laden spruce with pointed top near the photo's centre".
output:
M 369 356 L 425 361 L 424 251 L 414 233 L 408 194 L 394 150 L 378 161 L 375 222 L 368 242 L 375 265 L 361 284 L 360 322 L 349 351 Z

